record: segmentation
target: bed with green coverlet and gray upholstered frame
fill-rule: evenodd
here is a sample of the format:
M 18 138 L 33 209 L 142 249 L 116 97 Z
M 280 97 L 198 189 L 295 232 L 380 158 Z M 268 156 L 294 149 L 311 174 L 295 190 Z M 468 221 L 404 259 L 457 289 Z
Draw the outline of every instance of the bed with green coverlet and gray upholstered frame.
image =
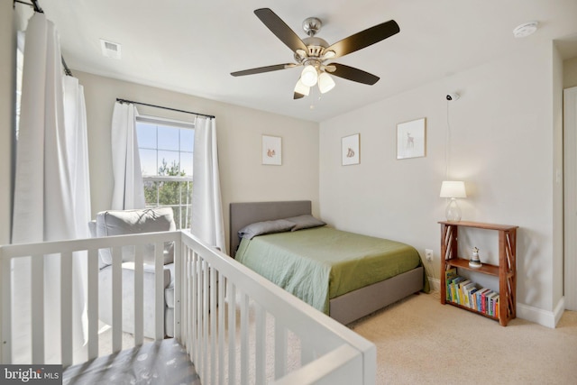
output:
M 428 292 L 414 247 L 321 224 L 293 231 L 294 226 L 283 223 L 287 218 L 312 218 L 311 202 L 231 203 L 232 256 L 343 325 L 413 293 Z M 251 224 L 259 230 L 262 224 L 289 229 L 241 239 L 239 232 L 252 232 Z

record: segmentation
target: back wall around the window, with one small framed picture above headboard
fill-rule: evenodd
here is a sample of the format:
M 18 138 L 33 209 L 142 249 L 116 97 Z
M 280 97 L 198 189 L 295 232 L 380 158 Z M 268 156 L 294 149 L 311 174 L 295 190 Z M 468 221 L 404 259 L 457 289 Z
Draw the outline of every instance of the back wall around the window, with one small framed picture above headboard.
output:
M 74 69 L 72 72 L 84 86 L 87 102 L 93 215 L 110 207 L 113 187 L 110 124 L 117 97 L 216 116 L 227 234 L 231 202 L 308 199 L 318 212 L 318 124 Z M 144 115 L 192 118 L 159 108 L 139 105 L 137 108 Z M 261 164 L 262 134 L 282 138 L 282 166 Z

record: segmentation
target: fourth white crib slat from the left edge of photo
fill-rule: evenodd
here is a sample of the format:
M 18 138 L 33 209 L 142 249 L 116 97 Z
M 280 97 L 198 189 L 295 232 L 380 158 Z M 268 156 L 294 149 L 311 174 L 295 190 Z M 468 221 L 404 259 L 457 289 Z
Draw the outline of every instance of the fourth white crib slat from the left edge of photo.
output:
M 98 357 L 98 251 L 88 251 L 88 360 Z

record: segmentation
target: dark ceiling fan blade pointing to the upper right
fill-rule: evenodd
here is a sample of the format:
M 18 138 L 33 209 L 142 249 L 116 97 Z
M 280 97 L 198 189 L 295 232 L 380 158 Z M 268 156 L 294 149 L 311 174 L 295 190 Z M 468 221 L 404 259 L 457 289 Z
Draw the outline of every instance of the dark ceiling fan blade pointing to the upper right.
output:
M 325 48 L 325 51 L 334 50 L 334 58 L 340 58 L 355 50 L 362 50 L 376 42 L 385 40 L 398 32 L 400 32 L 398 23 L 394 20 L 389 20 L 389 22 L 380 23 L 362 32 L 357 32 L 342 41 L 337 41 L 330 47 Z

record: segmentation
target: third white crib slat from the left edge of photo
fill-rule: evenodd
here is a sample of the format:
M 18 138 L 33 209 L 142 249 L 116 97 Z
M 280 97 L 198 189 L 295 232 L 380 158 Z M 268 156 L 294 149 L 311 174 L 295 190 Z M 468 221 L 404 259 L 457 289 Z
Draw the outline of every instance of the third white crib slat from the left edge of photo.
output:
M 72 364 L 72 253 L 60 254 L 60 338 L 62 365 Z

